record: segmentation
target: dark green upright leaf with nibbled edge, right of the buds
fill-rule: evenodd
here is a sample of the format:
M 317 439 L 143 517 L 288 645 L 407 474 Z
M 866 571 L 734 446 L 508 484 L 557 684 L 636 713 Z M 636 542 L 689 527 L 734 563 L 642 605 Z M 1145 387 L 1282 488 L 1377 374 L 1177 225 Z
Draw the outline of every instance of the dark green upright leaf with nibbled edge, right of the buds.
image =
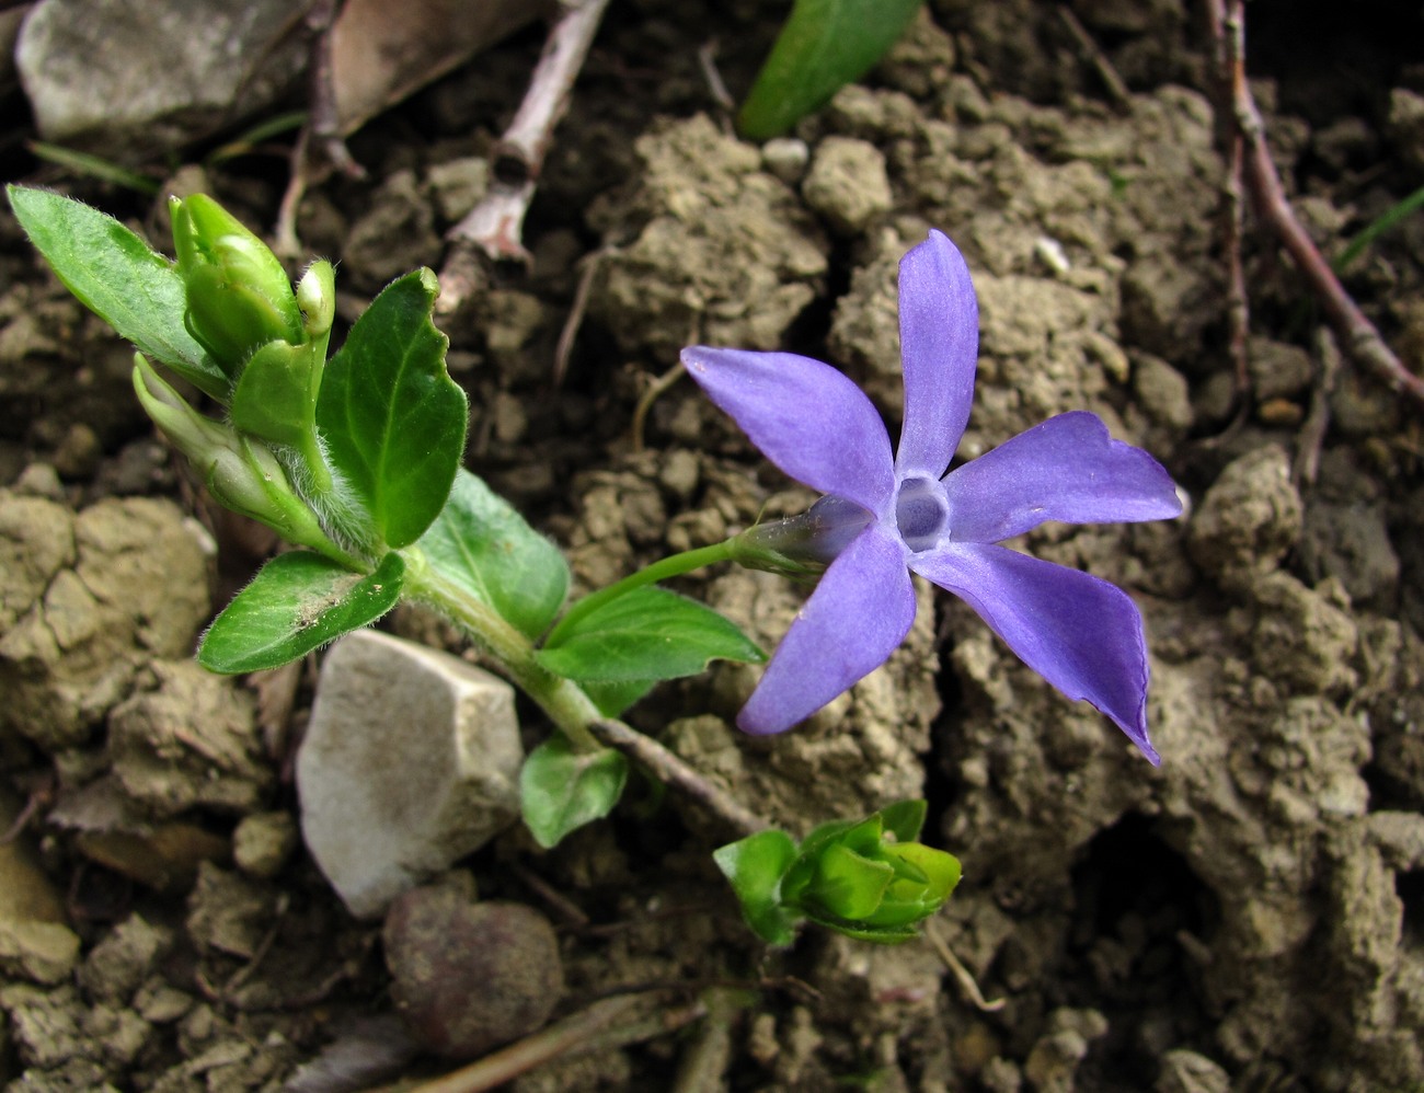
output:
M 316 424 L 369 527 L 393 549 L 439 515 L 464 455 L 464 391 L 444 366 L 449 339 L 430 322 L 439 283 L 429 269 L 392 282 L 326 366 Z

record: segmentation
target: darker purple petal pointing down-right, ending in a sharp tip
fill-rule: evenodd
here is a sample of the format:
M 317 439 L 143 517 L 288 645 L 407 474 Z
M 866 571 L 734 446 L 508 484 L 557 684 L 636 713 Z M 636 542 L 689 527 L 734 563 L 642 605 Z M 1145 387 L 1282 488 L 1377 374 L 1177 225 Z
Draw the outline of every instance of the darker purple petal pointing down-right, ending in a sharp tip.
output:
M 1116 585 L 1007 546 L 954 542 L 913 555 L 914 572 L 963 598 L 1025 665 L 1087 699 L 1153 766 L 1142 615 Z

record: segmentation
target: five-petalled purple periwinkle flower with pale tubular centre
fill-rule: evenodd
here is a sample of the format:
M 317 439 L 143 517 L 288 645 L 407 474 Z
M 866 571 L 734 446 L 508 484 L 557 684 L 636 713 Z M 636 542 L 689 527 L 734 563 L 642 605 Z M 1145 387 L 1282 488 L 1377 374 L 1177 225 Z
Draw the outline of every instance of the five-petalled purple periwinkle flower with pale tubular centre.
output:
M 1024 663 L 1091 702 L 1159 763 L 1136 605 L 1106 581 L 997 544 L 1049 519 L 1179 515 L 1172 478 L 1085 411 L 946 474 L 974 401 L 978 303 L 964 258 L 940 232 L 900 262 L 900 352 L 904 427 L 894 454 L 870 400 L 829 364 L 795 353 L 682 352 L 692 379 L 772 463 L 827 495 L 810 515 L 824 528 L 830 565 L 738 724 L 783 732 L 883 665 L 914 622 L 916 572 L 967 601 Z

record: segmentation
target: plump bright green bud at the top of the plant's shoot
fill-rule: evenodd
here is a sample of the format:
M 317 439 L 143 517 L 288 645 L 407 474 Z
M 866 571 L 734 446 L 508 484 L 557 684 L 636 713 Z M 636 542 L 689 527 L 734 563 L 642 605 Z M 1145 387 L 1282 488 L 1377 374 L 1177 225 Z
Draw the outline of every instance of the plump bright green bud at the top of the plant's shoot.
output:
M 171 198 L 189 333 L 236 379 L 268 342 L 299 344 L 302 309 L 276 255 L 212 198 Z M 329 324 L 328 324 L 329 326 Z

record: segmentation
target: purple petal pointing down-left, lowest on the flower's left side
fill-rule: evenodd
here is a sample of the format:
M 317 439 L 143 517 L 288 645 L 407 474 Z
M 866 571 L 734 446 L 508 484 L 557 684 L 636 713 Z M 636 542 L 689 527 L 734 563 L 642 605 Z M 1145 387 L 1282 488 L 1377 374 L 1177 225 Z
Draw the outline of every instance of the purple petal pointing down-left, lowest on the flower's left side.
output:
M 740 729 L 785 732 L 890 658 L 914 622 L 904 556 L 871 524 L 830 564 L 738 714 Z

